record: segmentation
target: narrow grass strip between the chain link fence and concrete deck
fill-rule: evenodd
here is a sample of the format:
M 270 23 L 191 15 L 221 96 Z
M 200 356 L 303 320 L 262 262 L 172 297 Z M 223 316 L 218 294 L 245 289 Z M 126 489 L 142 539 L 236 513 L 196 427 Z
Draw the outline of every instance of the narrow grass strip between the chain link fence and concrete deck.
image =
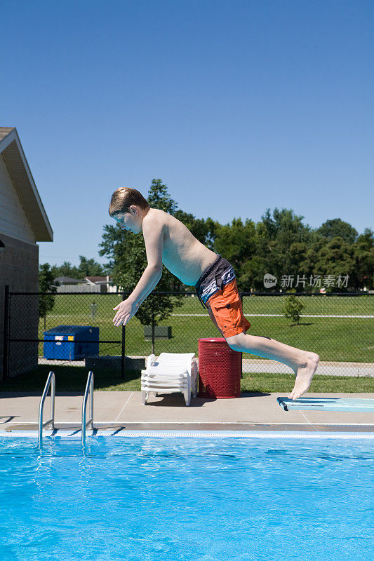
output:
M 20 391 L 43 393 L 48 372 L 53 370 L 56 391 L 76 391 L 83 396 L 88 370 L 74 366 L 39 365 L 33 372 L 9 379 L 0 384 L 0 391 Z M 251 374 L 244 373 L 241 379 L 242 392 L 288 393 L 293 388 L 294 374 Z M 140 391 L 140 370 L 127 370 L 121 379 L 118 370 L 94 371 L 96 391 Z M 312 380 L 309 391 L 321 393 L 369 393 L 374 392 L 373 378 L 319 376 Z

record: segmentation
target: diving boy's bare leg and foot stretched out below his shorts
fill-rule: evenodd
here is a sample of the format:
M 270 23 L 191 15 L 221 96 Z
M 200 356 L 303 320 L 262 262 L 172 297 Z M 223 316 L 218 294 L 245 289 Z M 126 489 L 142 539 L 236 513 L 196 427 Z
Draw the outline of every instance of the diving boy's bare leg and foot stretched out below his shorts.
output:
M 308 391 L 319 363 L 319 356 L 316 353 L 296 349 L 275 339 L 248 335 L 246 333 L 226 337 L 226 341 L 234 351 L 278 360 L 279 363 L 286 364 L 292 368 L 296 374 L 296 379 L 295 386 L 288 395 L 288 398 L 298 399 L 302 393 Z

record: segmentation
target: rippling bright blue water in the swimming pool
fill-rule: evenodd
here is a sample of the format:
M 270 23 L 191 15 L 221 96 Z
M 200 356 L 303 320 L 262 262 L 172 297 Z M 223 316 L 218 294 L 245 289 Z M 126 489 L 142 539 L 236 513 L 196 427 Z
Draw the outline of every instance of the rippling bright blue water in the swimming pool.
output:
M 374 440 L 0 436 L 1 561 L 369 561 Z

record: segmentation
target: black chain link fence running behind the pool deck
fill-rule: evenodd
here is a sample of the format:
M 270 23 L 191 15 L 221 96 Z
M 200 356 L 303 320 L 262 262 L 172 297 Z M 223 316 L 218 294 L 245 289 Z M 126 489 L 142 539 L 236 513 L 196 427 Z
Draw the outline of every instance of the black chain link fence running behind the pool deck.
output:
M 152 352 L 194 352 L 197 357 L 200 338 L 221 337 L 194 292 L 184 293 L 182 305 L 154 327 L 153 340 L 152 327 L 142 325 L 137 316 L 125 327 L 114 327 L 113 308 L 126 297 L 7 291 L 3 379 L 55 364 L 104 370 L 121 379 L 126 369 L 144 367 Z M 374 375 L 374 295 L 241 293 L 241 299 L 251 323 L 248 334 L 319 353 L 318 374 Z M 46 309 L 40 317 L 39 311 Z M 242 353 L 242 359 L 243 372 L 291 372 L 282 363 L 251 353 Z

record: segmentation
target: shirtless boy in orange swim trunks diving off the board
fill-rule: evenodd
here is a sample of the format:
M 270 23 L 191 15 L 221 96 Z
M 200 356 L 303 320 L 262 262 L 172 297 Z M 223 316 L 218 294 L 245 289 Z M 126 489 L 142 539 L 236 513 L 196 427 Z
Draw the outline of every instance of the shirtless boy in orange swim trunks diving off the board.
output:
M 150 208 L 136 189 L 116 189 L 109 215 L 121 229 L 133 234 L 142 231 L 148 261 L 131 295 L 114 308 L 114 325 L 125 325 L 134 316 L 159 282 L 164 264 L 182 283 L 196 288 L 201 304 L 234 351 L 278 360 L 293 369 L 295 386 L 288 398 L 295 400 L 309 389 L 319 356 L 270 337 L 246 334 L 251 324 L 243 316 L 234 269 L 226 259 L 206 248 L 178 219 Z

